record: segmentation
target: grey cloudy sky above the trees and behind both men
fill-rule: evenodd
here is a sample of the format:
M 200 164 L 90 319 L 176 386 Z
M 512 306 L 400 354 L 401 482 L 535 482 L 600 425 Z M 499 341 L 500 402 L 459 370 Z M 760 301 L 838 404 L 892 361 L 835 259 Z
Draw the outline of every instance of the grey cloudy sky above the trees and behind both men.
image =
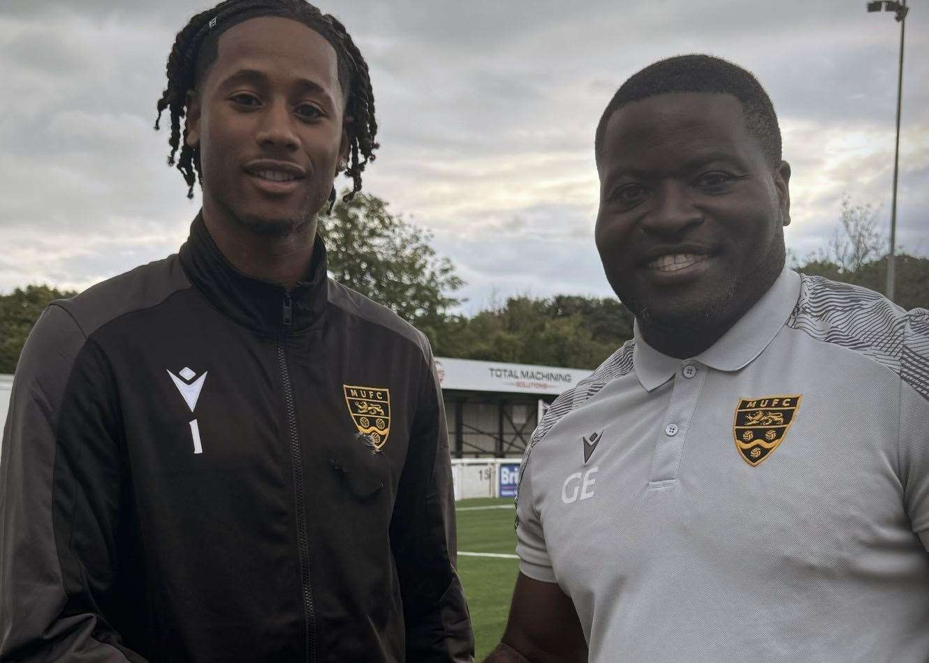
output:
M 0 3 L 0 293 L 83 289 L 174 253 L 189 202 L 155 101 L 199 0 Z M 929 2 L 907 19 L 897 238 L 929 254 Z M 865 0 L 341 0 L 372 70 L 379 140 L 364 188 L 435 234 L 465 311 L 513 293 L 607 295 L 593 242 L 595 124 L 650 62 L 704 52 L 753 71 L 792 163 L 787 241 L 839 203 L 889 224 L 899 24 Z

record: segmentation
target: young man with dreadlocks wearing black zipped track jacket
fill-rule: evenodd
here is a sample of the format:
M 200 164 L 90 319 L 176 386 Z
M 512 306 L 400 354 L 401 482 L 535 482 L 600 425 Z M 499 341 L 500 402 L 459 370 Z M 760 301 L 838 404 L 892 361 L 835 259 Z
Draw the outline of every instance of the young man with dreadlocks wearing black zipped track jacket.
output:
M 23 350 L 0 659 L 471 660 L 431 351 L 316 234 L 377 148 L 364 58 L 304 0 L 227 0 L 167 75 L 203 210 Z

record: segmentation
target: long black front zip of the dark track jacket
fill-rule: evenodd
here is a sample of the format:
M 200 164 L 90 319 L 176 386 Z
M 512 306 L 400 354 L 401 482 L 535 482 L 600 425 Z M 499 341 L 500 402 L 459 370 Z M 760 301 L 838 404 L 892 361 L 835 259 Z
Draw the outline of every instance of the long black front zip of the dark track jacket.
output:
M 282 310 L 283 329 L 278 343 L 278 362 L 281 365 L 281 382 L 284 385 L 284 401 L 287 407 L 287 425 L 290 428 L 291 461 L 294 463 L 294 500 L 296 502 L 296 539 L 300 547 L 300 583 L 303 589 L 303 603 L 307 612 L 307 661 L 316 660 L 316 616 L 313 611 L 313 593 L 309 584 L 309 552 L 307 548 L 307 513 L 303 497 L 303 461 L 300 453 L 300 440 L 296 434 L 296 411 L 294 409 L 294 390 L 291 387 L 290 371 L 287 370 L 287 358 L 284 356 L 284 341 L 294 322 L 294 309 L 290 294 L 284 293 Z

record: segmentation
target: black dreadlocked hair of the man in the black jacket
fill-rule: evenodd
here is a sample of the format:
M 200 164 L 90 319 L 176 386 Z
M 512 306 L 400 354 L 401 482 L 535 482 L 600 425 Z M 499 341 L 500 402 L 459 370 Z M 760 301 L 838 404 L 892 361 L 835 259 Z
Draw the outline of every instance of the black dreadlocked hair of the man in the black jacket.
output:
M 224 0 L 194 16 L 183 30 L 177 32 L 165 67 L 168 84 L 158 99 L 158 116 L 155 118 L 155 130 L 158 130 L 164 110 L 171 116 L 168 165 L 176 166 L 184 176 L 188 186 L 187 197 L 193 198 L 193 188 L 198 182 L 203 184 L 203 174 L 200 149 L 187 144 L 186 127 L 183 134 L 181 132 L 181 118 L 187 111 L 188 94 L 203 81 L 206 71 L 216 61 L 219 35 L 245 20 L 263 16 L 278 16 L 303 23 L 318 32 L 335 50 L 339 84 L 346 96 L 348 163 L 345 175 L 352 179 L 352 189 L 347 191 L 342 201 L 348 202 L 361 190 L 361 173 L 368 162 L 374 161 L 374 150 L 380 147 L 374 141 L 377 135 L 374 92 L 368 64 L 345 26 L 306 0 Z M 330 212 L 334 204 L 333 188 L 329 196 Z

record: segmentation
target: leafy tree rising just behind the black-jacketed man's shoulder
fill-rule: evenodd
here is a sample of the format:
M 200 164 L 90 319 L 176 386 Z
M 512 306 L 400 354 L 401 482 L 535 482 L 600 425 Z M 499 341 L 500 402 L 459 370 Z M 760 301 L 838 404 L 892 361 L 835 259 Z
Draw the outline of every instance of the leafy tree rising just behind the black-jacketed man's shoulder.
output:
M 431 233 L 391 214 L 369 193 L 339 202 L 321 219 L 320 233 L 335 280 L 392 308 L 435 344 L 449 309 L 463 301 L 453 293 L 464 281 L 436 254 Z

